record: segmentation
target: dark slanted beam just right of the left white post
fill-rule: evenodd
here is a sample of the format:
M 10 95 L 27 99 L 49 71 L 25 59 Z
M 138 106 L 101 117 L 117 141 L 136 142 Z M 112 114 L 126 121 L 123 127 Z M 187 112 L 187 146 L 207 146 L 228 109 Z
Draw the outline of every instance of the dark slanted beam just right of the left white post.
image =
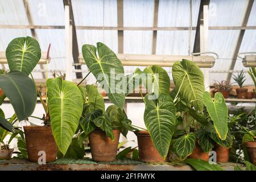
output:
M 77 43 L 77 36 L 76 36 L 76 26 L 75 26 L 75 19 L 73 15 L 72 3 L 71 0 L 63 0 L 64 6 L 69 6 L 69 19 L 70 23 L 72 24 L 72 55 L 74 63 L 79 63 L 79 46 Z M 75 66 L 75 69 L 81 69 L 80 65 Z M 82 78 L 82 73 L 76 73 L 76 78 Z

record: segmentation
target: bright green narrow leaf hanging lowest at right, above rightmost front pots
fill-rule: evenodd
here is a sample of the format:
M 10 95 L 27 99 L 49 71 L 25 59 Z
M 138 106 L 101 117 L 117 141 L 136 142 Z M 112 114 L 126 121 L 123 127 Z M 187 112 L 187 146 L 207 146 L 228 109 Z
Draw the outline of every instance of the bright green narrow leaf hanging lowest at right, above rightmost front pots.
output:
M 228 134 L 228 106 L 226 106 L 224 97 L 220 92 L 214 94 L 214 101 L 209 92 L 205 92 L 203 97 L 204 105 L 207 107 L 218 137 L 225 140 Z

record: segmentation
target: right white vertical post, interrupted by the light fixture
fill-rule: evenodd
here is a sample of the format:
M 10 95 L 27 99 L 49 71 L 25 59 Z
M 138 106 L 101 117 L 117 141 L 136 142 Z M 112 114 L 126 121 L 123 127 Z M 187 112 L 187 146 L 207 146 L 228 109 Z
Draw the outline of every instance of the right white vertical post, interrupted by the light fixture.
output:
M 209 14 L 208 5 L 203 6 L 203 23 L 200 23 L 200 52 L 209 51 Z M 205 90 L 210 90 L 209 68 L 202 69 L 204 73 Z

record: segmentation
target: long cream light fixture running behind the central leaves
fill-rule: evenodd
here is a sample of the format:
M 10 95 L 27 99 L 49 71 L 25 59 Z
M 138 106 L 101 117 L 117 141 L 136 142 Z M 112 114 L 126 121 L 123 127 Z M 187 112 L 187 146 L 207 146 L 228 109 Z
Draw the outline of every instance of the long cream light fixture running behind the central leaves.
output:
M 187 59 L 194 61 L 200 68 L 212 68 L 215 63 L 213 56 L 175 56 L 175 55 L 133 55 L 133 54 L 117 54 L 119 60 L 125 66 L 150 66 L 159 65 L 161 67 L 172 67 L 175 61 Z M 85 64 L 81 53 L 79 55 L 79 63 Z

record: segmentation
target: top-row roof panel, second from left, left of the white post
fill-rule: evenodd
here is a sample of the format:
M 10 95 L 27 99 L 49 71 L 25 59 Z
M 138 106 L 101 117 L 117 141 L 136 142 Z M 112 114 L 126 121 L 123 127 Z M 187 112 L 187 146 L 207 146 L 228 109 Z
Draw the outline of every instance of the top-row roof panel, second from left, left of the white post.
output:
M 28 0 L 35 25 L 63 26 L 65 24 L 63 0 Z

